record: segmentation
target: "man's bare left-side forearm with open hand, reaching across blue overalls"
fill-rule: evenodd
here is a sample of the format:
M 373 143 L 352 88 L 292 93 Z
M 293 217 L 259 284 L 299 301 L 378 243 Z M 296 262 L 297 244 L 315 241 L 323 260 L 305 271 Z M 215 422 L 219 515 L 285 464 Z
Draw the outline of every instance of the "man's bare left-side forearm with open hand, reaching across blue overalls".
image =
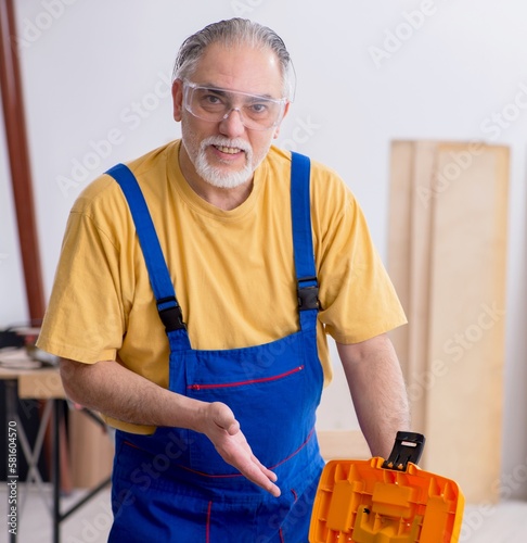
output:
M 277 476 L 254 456 L 234 414 L 223 403 L 201 402 L 130 371 L 115 361 L 81 364 L 61 359 L 61 377 L 69 399 L 118 420 L 202 432 L 221 457 L 272 495 Z

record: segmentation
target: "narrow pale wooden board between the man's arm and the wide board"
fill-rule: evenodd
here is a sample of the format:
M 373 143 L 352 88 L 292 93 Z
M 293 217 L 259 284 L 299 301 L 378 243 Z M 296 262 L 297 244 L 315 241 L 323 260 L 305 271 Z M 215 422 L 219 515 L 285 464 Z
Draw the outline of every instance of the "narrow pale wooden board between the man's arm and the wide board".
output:
M 410 326 L 393 333 L 409 384 L 414 431 L 424 432 L 428 351 L 428 278 L 436 143 L 397 141 L 391 152 L 389 273 Z

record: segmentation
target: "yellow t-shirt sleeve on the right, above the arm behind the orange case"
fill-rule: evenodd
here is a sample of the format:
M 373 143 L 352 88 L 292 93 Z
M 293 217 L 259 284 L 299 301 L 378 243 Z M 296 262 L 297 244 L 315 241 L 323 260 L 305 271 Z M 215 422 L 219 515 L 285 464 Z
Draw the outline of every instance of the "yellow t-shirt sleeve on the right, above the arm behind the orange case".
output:
M 339 343 L 358 343 L 406 324 L 356 198 L 334 175 L 323 179 L 318 190 L 314 249 L 322 305 L 319 317 L 325 331 Z

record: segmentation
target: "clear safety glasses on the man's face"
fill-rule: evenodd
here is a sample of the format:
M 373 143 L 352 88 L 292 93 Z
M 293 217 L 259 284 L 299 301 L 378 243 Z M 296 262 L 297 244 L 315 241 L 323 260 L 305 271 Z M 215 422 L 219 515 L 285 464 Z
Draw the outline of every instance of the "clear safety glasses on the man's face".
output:
M 286 103 L 286 98 L 274 99 L 183 81 L 184 108 L 195 117 L 210 123 L 220 123 L 236 111 L 246 128 L 268 130 L 280 124 Z

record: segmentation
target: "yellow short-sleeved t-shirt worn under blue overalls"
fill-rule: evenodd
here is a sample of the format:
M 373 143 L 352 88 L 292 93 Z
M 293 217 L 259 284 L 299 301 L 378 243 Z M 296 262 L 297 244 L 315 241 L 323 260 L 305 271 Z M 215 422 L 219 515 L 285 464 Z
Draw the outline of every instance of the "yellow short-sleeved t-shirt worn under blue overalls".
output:
M 171 142 L 128 166 L 150 207 L 193 349 L 257 345 L 295 332 L 290 153 L 271 148 L 248 199 L 223 211 L 187 184 L 179 146 Z M 311 220 L 322 306 L 318 346 L 327 383 L 326 333 L 356 343 L 406 318 L 357 201 L 334 172 L 316 162 Z M 165 329 L 127 202 L 110 176 L 88 186 L 72 209 L 38 346 L 87 364 L 118 359 L 168 386 Z

